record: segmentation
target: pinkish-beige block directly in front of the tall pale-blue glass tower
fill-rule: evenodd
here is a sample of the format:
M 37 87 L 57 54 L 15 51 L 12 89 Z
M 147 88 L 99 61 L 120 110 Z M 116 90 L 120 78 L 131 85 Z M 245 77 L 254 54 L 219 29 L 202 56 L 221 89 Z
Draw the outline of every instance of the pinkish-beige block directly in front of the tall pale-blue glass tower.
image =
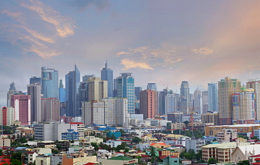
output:
M 43 112 L 42 121 L 60 121 L 60 100 L 56 98 L 41 98 L 41 111 Z

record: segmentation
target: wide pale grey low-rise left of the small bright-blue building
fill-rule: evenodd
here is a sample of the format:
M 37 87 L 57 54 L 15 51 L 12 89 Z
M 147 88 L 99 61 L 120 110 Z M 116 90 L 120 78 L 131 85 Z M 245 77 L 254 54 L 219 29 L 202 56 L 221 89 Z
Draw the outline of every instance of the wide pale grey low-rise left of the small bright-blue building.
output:
M 40 141 L 61 141 L 61 133 L 67 129 L 70 129 L 70 124 L 63 122 L 34 124 L 34 136 Z

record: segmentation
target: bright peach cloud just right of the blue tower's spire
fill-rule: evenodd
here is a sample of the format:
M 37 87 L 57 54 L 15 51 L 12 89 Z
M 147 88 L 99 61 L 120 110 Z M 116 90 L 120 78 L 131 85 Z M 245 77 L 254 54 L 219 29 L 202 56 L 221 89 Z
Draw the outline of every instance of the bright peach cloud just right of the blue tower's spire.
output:
M 148 64 L 145 62 L 134 62 L 131 59 L 122 59 L 121 64 L 124 65 L 124 70 L 126 69 L 152 69 Z

